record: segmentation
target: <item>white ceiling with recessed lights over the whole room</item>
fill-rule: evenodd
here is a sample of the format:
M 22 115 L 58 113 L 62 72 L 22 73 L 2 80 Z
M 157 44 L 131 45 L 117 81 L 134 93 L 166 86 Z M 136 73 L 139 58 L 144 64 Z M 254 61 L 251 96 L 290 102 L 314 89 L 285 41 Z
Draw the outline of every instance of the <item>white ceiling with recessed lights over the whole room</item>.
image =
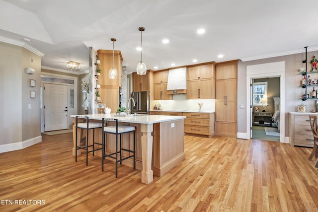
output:
M 154 70 L 243 61 L 318 50 L 313 0 L 0 0 L 0 36 L 42 52 L 42 67 L 66 71 L 66 62 L 88 70 L 88 49 L 115 50 L 127 72 L 140 62 Z M 197 29 L 205 28 L 202 35 Z M 169 39 L 163 44 L 162 39 Z M 3 39 L 2 39 L 3 40 Z M 223 54 L 224 58 L 217 56 Z M 192 60 L 197 59 L 196 63 Z

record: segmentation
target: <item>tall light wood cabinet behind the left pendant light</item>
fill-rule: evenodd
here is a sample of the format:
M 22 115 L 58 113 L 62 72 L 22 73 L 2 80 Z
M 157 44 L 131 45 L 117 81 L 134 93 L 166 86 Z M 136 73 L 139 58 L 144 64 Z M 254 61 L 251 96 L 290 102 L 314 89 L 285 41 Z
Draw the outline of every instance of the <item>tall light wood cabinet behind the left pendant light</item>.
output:
M 122 81 L 122 76 L 120 76 L 120 74 L 122 74 L 120 70 L 122 70 L 123 62 L 121 52 L 114 52 L 114 68 L 118 71 L 116 79 L 110 79 L 108 77 L 108 71 L 113 67 L 113 51 L 98 50 L 97 56 L 100 61 L 98 67 L 101 69 L 100 76 L 98 76 L 100 99 L 111 111 L 116 111 L 119 106 L 119 83 Z

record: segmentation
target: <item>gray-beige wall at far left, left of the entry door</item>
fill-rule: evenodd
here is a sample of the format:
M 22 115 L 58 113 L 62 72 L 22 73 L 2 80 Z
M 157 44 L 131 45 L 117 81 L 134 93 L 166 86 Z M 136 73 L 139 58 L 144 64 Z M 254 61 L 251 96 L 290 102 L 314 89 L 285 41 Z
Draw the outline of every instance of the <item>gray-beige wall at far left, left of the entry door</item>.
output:
M 24 73 L 27 67 L 35 74 Z M 0 42 L 0 145 L 41 136 L 40 72 L 40 56 Z M 36 87 L 29 86 L 29 79 L 36 80 Z M 35 90 L 36 98 L 30 98 L 30 90 Z

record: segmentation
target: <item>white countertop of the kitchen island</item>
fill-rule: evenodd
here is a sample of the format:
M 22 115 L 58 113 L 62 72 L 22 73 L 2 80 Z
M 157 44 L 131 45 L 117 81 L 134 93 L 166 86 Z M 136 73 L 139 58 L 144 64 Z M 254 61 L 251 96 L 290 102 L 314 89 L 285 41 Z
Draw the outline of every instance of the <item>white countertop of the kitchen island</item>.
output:
M 137 124 L 154 124 L 154 123 L 160 123 L 160 122 L 167 122 L 167 121 L 174 121 L 174 120 L 180 120 L 185 119 L 185 116 L 161 116 L 161 115 L 144 115 L 144 114 L 138 114 L 138 116 L 132 116 L 132 117 L 120 117 L 116 116 L 116 114 L 88 114 L 88 115 L 71 115 L 71 117 L 76 118 L 76 116 L 79 116 L 79 118 L 84 118 L 85 116 L 88 116 L 89 119 L 93 120 L 102 120 L 103 118 L 113 118 L 118 119 L 120 122 L 126 122 L 126 123 L 137 123 Z

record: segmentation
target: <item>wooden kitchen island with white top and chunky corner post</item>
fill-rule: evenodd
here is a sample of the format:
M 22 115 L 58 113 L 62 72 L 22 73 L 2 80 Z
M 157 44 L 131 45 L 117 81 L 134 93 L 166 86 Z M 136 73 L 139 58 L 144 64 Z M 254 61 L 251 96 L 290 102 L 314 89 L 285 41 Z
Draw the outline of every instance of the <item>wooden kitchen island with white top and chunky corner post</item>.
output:
M 76 116 L 73 117 L 73 155 L 76 149 Z M 153 181 L 153 175 L 163 176 L 171 168 L 184 160 L 184 119 L 185 116 L 161 116 L 161 115 L 140 115 L 131 117 L 117 116 L 116 114 L 89 114 L 78 115 L 79 122 L 85 120 L 85 116 L 94 122 L 101 122 L 102 118 L 118 119 L 121 125 L 136 127 L 136 169 L 142 170 L 141 181 L 149 184 Z M 107 125 L 113 122 L 107 121 Z M 78 135 L 81 135 L 78 130 Z M 85 135 L 85 134 L 84 134 Z M 101 129 L 95 131 L 95 141 L 101 142 Z M 80 141 L 81 136 L 78 140 Z M 107 140 L 114 140 L 114 135 L 107 134 Z M 125 141 L 129 142 L 125 142 Z M 92 133 L 89 134 L 89 141 L 92 141 Z M 115 152 L 115 142 L 108 142 L 105 146 L 107 152 Z M 133 148 L 133 137 L 130 134 L 123 135 L 123 147 Z M 78 150 L 78 154 L 81 150 Z M 97 151 L 96 155 L 101 156 Z M 124 155 L 124 154 L 123 154 Z M 124 165 L 133 167 L 133 160 L 123 161 Z

